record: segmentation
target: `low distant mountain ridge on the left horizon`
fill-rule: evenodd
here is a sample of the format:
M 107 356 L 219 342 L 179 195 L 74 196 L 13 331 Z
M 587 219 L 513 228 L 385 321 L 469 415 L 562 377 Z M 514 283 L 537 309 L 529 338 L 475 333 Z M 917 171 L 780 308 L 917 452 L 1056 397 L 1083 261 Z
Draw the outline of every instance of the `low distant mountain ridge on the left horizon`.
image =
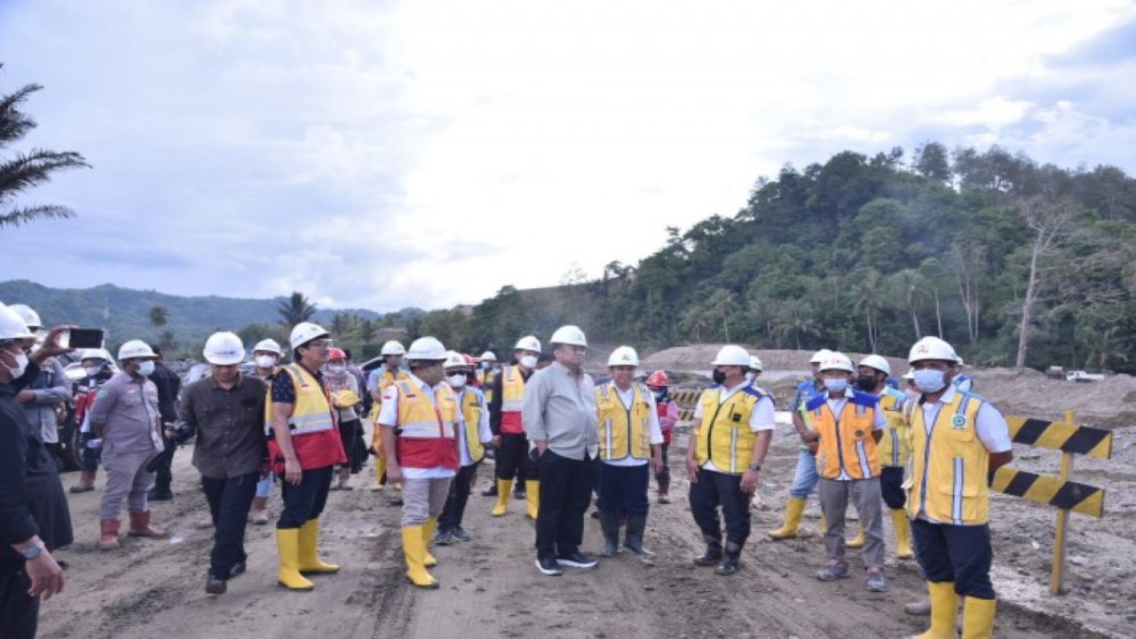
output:
M 53 289 L 28 280 L 0 282 L 0 301 L 26 304 L 34 308 L 44 325 L 64 323 L 105 329 L 110 345 L 128 339 L 156 340 L 169 330 L 181 343 L 198 343 L 217 330 L 240 331 L 250 324 L 279 323 L 276 308 L 285 297 L 270 299 L 242 299 L 220 296 L 182 297 L 158 291 L 124 289 L 101 284 L 90 289 Z M 150 323 L 150 309 L 164 306 L 169 310 L 165 326 Z M 336 314 L 353 314 L 365 320 L 377 320 L 382 314 L 368 309 L 316 310 L 312 321 L 331 324 Z

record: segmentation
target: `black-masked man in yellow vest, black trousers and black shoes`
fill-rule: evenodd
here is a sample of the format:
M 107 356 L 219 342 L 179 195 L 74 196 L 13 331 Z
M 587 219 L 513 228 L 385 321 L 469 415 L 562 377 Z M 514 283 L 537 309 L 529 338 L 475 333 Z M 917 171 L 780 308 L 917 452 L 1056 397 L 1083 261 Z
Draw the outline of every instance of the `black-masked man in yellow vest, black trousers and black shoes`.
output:
M 721 347 L 711 363 L 715 385 L 702 391 L 694 408 L 694 430 L 687 445 L 691 514 L 707 542 L 694 558 L 727 576 L 741 569 L 742 548 L 750 537 L 750 496 L 769 453 L 776 417 L 774 403 L 745 379 L 750 354 L 734 345 Z M 726 520 L 725 551 L 718 508 Z

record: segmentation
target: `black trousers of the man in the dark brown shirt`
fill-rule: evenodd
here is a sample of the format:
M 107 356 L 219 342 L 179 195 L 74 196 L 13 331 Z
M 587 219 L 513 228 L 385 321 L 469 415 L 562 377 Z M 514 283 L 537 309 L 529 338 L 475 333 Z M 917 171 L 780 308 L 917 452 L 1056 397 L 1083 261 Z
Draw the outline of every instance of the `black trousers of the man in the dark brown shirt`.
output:
M 217 579 L 228 579 L 233 566 L 248 557 L 244 553 L 244 528 L 259 481 L 260 473 L 257 471 L 227 479 L 201 478 L 201 491 L 206 493 L 209 516 L 214 522 L 209 573 Z

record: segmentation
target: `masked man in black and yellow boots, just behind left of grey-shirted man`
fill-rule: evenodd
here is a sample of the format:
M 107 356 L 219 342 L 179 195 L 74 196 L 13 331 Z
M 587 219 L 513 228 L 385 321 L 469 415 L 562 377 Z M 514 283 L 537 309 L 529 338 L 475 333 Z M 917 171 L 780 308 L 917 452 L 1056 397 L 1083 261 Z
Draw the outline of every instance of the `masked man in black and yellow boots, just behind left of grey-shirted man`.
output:
M 513 348 L 515 364 L 506 366 L 493 382 L 493 400 L 490 401 L 490 429 L 493 430 L 493 446 L 496 447 L 498 503 L 493 506 L 494 517 L 504 516 L 509 508 L 509 491 L 512 482 L 524 481 L 518 497 L 528 501 L 527 514 L 536 518 L 541 501 L 541 482 L 536 464 L 528 454 L 528 437 L 521 423 L 525 383 L 536 370 L 541 355 L 541 342 L 533 335 L 517 341 Z

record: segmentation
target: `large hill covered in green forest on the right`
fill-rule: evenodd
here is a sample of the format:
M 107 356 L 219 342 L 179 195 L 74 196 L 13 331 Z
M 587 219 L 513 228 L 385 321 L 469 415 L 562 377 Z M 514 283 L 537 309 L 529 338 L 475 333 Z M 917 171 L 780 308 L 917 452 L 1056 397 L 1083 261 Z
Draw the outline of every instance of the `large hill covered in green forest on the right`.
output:
M 980 364 L 1136 372 L 1136 181 L 1114 167 L 938 143 L 910 158 L 841 152 L 758 180 L 733 217 L 669 232 L 559 305 L 506 288 L 469 318 L 435 312 L 418 329 L 508 346 L 571 320 L 641 347 L 889 355 L 942 334 Z

